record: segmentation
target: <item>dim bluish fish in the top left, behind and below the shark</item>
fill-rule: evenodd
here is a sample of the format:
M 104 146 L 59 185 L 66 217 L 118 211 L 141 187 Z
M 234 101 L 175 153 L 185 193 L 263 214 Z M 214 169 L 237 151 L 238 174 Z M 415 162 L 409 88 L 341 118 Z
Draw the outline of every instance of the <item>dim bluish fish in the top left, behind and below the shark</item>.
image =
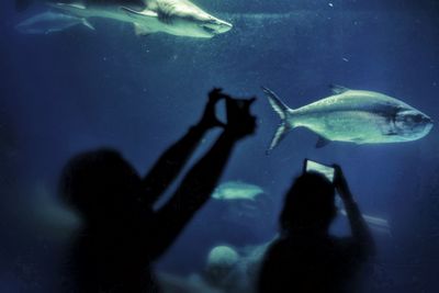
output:
M 26 19 L 19 23 L 15 29 L 23 34 L 50 34 L 65 31 L 78 24 L 94 31 L 93 25 L 83 18 L 52 11 Z

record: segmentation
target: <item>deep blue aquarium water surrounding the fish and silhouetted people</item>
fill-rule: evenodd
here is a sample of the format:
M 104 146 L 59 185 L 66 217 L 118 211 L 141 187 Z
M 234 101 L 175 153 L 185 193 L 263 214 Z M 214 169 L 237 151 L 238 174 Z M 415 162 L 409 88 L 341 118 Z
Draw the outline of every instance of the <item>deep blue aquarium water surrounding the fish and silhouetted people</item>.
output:
M 312 158 L 341 165 L 361 210 L 392 226 L 391 235 L 374 233 L 379 256 L 364 272 L 364 291 L 439 292 L 438 126 L 417 142 L 323 149 L 314 148 L 315 134 L 295 129 L 266 156 L 279 119 L 260 91 L 267 86 L 297 108 L 337 83 L 387 93 L 439 121 L 438 2 L 194 2 L 234 29 L 212 40 L 137 37 L 127 24 L 94 20 L 95 32 L 25 35 L 14 26 L 46 9 L 18 13 L 0 4 L 0 292 L 58 292 L 68 228 L 45 228 L 45 212 L 35 210 L 45 211 L 42 194 L 56 196 L 69 157 L 111 146 L 145 173 L 198 121 L 212 87 L 259 98 L 257 135 L 235 149 L 222 181 L 260 185 L 271 204 L 234 217 L 225 203 L 209 202 L 158 269 L 187 275 L 215 245 L 271 239 L 283 193 Z M 344 219 L 334 228 L 348 234 Z

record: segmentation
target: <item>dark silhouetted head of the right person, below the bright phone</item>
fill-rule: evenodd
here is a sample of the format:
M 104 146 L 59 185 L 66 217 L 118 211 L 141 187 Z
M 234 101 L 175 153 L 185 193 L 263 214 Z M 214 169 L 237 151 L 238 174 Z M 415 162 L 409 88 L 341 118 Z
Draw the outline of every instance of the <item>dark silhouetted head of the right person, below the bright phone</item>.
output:
M 326 233 L 336 215 L 335 189 L 324 176 L 305 172 L 286 193 L 280 216 L 282 233 Z

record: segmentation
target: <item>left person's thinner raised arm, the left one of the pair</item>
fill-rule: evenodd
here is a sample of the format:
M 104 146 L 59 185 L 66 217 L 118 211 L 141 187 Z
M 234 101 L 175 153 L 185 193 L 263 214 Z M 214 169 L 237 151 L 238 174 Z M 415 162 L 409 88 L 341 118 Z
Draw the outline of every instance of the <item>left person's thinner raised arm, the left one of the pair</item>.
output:
M 143 180 L 143 190 L 145 191 L 144 201 L 148 206 L 154 204 L 177 178 L 204 134 L 215 126 L 224 126 L 215 116 L 215 105 L 223 98 L 219 89 L 213 89 L 209 93 L 209 102 L 199 123 L 171 145 L 146 174 Z

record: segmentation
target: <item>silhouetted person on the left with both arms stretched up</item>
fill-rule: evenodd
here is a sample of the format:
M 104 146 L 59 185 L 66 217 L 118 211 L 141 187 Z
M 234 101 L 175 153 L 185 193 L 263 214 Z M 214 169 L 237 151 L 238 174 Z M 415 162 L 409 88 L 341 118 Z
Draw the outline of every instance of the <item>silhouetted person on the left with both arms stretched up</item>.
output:
M 226 125 L 215 117 L 221 99 L 226 99 Z M 86 153 L 68 162 L 61 192 L 83 221 L 70 263 L 75 292 L 159 292 L 150 264 L 210 199 L 235 144 L 254 133 L 252 101 L 213 90 L 201 121 L 166 150 L 144 178 L 111 149 Z M 217 140 L 189 170 L 170 200 L 154 211 L 154 203 L 215 126 L 224 127 Z

